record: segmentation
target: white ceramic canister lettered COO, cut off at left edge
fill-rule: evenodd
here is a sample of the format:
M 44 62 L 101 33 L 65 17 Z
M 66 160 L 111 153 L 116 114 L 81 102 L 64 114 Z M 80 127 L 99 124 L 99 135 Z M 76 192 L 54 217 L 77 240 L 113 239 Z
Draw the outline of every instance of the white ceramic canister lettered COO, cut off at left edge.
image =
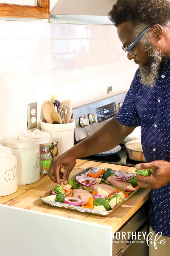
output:
M 0 197 L 18 189 L 17 158 L 9 147 L 0 144 Z

